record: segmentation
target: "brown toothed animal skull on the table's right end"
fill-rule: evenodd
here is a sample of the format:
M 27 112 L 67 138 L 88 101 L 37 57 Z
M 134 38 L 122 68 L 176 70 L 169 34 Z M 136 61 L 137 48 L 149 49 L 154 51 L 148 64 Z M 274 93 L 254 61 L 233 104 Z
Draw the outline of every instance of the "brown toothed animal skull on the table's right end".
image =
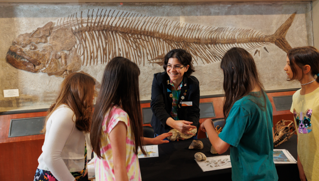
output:
M 290 122 L 286 125 L 286 122 Z M 290 132 L 290 130 L 293 130 Z M 286 142 L 296 132 L 295 124 L 292 121 L 281 120 L 277 122 L 274 131 L 274 148 Z

